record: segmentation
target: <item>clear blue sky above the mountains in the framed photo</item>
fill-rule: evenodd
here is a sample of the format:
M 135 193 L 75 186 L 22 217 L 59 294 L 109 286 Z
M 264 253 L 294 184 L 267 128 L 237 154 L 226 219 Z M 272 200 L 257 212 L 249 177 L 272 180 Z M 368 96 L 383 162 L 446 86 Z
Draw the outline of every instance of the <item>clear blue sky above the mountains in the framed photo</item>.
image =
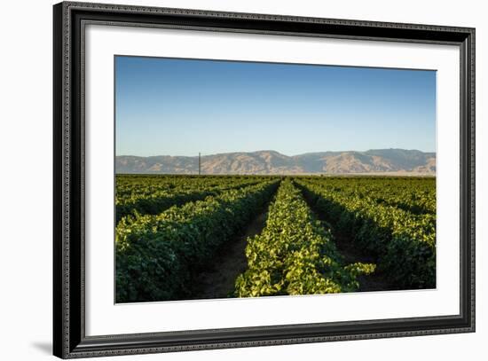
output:
M 115 57 L 117 155 L 436 150 L 436 72 Z

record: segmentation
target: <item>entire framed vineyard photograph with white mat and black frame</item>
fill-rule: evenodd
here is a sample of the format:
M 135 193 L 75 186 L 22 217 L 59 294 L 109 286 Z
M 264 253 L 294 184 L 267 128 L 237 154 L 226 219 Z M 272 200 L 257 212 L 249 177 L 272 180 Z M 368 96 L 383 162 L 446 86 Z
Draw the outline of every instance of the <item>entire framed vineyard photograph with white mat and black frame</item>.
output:
M 475 29 L 54 5 L 54 355 L 475 331 Z

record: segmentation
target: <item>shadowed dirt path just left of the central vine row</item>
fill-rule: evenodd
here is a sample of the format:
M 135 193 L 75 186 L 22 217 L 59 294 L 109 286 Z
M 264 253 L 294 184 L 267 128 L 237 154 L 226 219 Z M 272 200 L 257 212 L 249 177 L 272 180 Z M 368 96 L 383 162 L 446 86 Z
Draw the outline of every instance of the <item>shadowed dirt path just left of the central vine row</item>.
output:
M 267 208 L 257 215 L 242 234 L 220 249 L 209 270 L 201 271 L 195 279 L 195 283 L 199 286 L 193 299 L 232 296 L 235 279 L 248 268 L 245 254 L 247 239 L 263 231 L 266 223 L 266 210 Z

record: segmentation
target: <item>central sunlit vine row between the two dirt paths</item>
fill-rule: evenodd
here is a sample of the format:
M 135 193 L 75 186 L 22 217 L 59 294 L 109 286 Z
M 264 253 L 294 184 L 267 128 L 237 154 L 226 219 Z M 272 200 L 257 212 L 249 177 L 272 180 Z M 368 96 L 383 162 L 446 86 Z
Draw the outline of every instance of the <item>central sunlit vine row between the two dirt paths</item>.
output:
M 269 208 L 264 231 L 248 239 L 246 256 L 248 270 L 235 283 L 239 297 L 350 292 L 358 288 L 358 274 L 375 267 L 342 265 L 330 231 L 315 219 L 288 179 Z

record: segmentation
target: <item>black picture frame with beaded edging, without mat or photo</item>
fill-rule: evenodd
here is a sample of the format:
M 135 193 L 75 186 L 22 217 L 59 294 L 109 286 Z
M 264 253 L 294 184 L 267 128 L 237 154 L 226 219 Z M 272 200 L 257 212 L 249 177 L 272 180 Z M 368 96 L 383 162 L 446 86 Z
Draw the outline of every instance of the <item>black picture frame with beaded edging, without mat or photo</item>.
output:
M 53 6 L 53 353 L 102 357 L 475 331 L 475 29 L 64 2 Z M 177 27 L 460 47 L 460 314 L 155 334 L 85 335 L 83 29 Z

